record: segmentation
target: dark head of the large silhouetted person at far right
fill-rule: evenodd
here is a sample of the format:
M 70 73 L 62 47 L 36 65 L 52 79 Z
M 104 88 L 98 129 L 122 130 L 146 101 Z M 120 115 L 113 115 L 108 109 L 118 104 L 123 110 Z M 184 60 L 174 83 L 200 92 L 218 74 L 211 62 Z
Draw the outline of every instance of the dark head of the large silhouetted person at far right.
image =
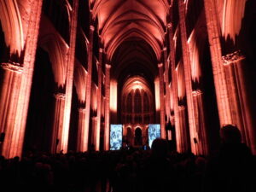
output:
M 241 143 L 241 133 L 236 125 L 224 125 L 220 129 L 220 137 L 223 143 Z

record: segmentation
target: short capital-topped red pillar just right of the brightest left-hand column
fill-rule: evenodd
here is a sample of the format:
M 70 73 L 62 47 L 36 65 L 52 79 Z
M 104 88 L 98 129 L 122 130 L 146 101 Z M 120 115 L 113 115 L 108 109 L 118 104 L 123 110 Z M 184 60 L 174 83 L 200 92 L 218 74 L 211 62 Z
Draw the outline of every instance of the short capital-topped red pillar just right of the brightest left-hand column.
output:
M 78 143 L 77 143 L 77 151 L 82 152 L 84 146 L 84 126 L 85 126 L 85 108 L 79 108 L 79 128 L 78 128 Z

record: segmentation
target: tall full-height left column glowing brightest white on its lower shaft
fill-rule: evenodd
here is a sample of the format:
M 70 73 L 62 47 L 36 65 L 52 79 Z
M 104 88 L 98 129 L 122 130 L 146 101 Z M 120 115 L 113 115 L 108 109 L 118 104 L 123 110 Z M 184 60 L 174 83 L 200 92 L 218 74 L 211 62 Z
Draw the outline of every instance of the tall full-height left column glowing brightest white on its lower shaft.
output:
M 79 13 L 79 0 L 73 0 L 73 10 L 71 16 L 70 25 L 70 39 L 69 49 L 67 54 L 67 79 L 66 79 L 66 101 L 65 108 L 63 110 L 63 126 L 60 127 L 60 150 L 67 153 L 68 134 L 69 134 L 69 123 L 70 123 L 70 112 L 72 103 L 72 92 L 73 92 L 73 71 L 74 71 L 74 59 L 75 59 L 75 47 L 77 37 L 77 26 L 78 26 L 78 13 Z M 59 151 L 57 151 L 59 152 Z

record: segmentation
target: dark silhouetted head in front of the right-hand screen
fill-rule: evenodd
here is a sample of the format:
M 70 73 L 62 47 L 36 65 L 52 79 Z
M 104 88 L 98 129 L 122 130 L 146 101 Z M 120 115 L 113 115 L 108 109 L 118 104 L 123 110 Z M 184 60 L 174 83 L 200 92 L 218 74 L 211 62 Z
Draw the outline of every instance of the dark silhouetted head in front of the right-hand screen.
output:
M 155 157 L 166 157 L 168 152 L 168 143 L 164 139 L 154 139 L 152 143 L 152 154 Z

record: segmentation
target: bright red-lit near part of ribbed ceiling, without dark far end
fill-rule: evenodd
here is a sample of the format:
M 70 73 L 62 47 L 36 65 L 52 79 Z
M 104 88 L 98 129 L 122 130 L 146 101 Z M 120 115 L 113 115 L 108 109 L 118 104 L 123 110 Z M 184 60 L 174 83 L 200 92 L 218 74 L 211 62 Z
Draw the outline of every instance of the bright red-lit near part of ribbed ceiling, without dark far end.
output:
M 97 1 L 92 13 L 94 18 L 98 17 L 102 42 L 109 59 L 119 44 L 134 37 L 148 42 L 160 59 L 160 44 L 165 39 L 161 23 L 166 23 L 168 9 L 165 1 Z M 127 20 L 131 18 L 133 21 L 127 25 Z

